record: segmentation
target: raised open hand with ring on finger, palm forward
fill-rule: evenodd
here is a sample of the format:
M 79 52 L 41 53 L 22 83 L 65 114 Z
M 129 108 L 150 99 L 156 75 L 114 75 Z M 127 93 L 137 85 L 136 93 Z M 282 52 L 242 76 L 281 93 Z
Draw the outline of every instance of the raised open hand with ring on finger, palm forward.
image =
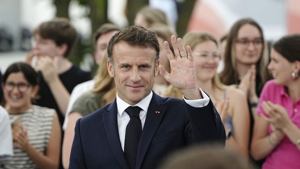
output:
M 167 72 L 164 66 L 159 65 L 160 74 L 174 87 L 181 90 L 187 100 L 201 99 L 202 95 L 196 80 L 196 71 L 193 63 L 193 54 L 190 46 L 185 50 L 182 39 L 171 36 L 174 53 L 170 50 L 167 41 L 164 41 L 164 48 L 170 61 L 171 72 Z

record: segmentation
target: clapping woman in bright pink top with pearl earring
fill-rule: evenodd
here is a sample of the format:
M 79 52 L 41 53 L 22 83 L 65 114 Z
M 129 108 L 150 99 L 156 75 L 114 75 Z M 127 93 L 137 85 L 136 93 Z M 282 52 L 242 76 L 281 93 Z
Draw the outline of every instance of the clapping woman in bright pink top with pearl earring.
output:
M 300 34 L 277 41 L 271 50 L 268 81 L 260 95 L 251 143 L 263 169 L 300 168 Z

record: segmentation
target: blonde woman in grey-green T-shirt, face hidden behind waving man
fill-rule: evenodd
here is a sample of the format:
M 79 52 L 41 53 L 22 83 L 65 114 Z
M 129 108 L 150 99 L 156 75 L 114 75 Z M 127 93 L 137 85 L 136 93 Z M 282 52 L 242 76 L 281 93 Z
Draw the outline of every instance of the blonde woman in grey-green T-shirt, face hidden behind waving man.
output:
M 72 142 L 74 138 L 74 128 L 77 119 L 95 112 L 101 107 L 113 102 L 116 98 L 116 85 L 114 78 L 110 77 L 107 71 L 107 50 L 102 57 L 102 63 L 95 76 L 95 85 L 91 91 L 82 94 L 74 103 L 64 131 L 64 141 L 62 146 L 62 162 L 64 168 L 69 167 Z

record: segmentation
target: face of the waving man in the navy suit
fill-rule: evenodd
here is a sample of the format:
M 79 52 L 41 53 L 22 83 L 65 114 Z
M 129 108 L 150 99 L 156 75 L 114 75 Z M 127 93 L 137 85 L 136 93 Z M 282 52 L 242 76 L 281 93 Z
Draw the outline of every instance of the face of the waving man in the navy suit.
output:
M 157 76 L 158 63 L 154 66 L 154 48 L 130 46 L 124 41 L 113 48 L 114 68 L 107 61 L 110 77 L 115 77 L 118 96 L 126 103 L 135 105 L 148 96 Z

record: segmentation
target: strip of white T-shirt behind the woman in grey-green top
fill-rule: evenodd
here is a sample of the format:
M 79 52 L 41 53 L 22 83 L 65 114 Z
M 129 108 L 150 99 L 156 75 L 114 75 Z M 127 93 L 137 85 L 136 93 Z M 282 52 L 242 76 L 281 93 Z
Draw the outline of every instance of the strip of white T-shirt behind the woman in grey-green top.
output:
M 66 115 L 64 117 L 64 124 L 62 126 L 62 129 L 65 130 L 67 128 L 67 124 L 69 121 L 69 115 L 70 115 L 70 111 L 74 105 L 74 103 L 76 102 L 76 100 L 85 92 L 90 91 L 93 89 L 95 85 L 95 80 L 89 80 L 89 81 L 85 81 L 83 83 L 77 84 L 75 86 L 75 88 L 73 89 L 71 95 L 70 95 L 70 100 L 68 103 L 68 107 L 67 107 L 67 112 Z

